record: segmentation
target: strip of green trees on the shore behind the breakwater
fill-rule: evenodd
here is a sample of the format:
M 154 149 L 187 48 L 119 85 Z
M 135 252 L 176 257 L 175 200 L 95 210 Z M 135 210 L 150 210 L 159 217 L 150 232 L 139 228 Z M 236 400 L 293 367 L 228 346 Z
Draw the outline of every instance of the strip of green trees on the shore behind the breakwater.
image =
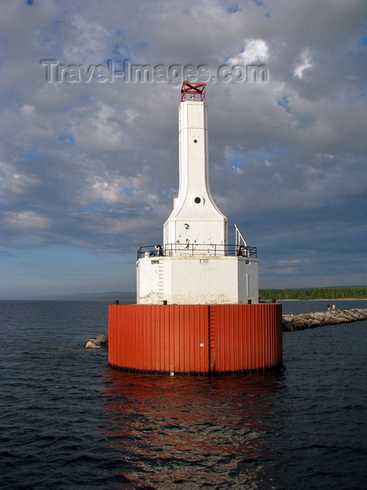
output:
M 260 300 L 364 300 L 367 286 L 354 288 L 259 289 Z

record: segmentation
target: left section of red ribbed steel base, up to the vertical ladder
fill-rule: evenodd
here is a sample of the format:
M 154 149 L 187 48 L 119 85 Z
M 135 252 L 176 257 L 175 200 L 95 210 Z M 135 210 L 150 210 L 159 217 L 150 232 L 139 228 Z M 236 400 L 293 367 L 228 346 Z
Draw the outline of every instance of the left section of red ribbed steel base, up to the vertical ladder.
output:
M 208 372 L 208 307 L 110 305 L 108 362 L 141 372 Z

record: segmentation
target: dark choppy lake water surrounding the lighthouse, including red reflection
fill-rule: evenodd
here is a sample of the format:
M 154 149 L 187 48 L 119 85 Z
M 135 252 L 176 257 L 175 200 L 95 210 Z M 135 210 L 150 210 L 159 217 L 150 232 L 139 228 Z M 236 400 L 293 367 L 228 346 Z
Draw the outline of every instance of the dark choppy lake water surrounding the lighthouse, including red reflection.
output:
M 308 303 L 289 311 L 325 309 Z M 84 349 L 106 302 L 3 301 L 0 325 L 1 488 L 367 487 L 366 321 L 285 332 L 282 370 L 212 378 L 110 369 Z

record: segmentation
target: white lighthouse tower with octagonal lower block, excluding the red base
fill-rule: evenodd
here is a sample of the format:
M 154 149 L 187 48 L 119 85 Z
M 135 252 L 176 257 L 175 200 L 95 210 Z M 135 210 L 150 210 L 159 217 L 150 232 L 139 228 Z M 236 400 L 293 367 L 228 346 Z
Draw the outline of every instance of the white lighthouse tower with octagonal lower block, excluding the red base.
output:
M 163 246 L 138 251 L 138 304 L 259 302 L 257 253 L 210 193 L 206 85 L 184 82 L 179 109 L 180 188 L 164 223 Z

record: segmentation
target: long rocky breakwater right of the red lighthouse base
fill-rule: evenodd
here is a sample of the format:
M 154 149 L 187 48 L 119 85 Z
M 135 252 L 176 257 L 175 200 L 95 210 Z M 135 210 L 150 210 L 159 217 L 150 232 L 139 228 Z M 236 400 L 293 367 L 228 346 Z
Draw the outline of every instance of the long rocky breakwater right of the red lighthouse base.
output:
M 350 323 L 359 320 L 367 320 L 367 309 L 337 309 L 336 311 L 317 311 L 316 313 L 289 314 L 282 316 L 283 331 L 285 332 L 321 327 L 323 325 Z

